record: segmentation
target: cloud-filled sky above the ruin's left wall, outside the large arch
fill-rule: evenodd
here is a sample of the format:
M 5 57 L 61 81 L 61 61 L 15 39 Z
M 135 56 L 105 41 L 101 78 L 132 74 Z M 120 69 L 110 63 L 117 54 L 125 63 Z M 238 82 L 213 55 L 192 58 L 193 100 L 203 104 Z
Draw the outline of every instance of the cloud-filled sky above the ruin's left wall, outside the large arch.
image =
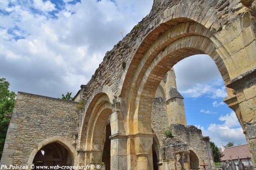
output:
M 0 77 L 10 89 L 51 97 L 90 80 L 106 51 L 153 1 L 0 1 Z

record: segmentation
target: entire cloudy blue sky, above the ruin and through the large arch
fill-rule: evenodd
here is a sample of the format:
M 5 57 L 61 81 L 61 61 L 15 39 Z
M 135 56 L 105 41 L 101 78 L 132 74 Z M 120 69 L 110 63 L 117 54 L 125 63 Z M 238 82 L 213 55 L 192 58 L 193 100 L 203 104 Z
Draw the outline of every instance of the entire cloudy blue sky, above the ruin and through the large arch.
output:
M 106 53 L 152 7 L 153 0 L 0 0 L 0 77 L 10 90 L 58 98 L 86 84 Z M 189 125 L 218 146 L 246 143 L 226 90 L 207 55 L 174 66 Z

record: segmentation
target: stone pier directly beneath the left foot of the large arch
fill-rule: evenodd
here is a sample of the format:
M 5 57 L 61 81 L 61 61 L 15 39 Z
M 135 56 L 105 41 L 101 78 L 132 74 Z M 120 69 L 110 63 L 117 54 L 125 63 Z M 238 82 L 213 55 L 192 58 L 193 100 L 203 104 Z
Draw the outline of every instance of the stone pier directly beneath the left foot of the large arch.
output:
M 153 135 L 138 133 L 134 135 L 134 145 L 137 159 L 137 170 L 153 169 L 153 160 L 150 155 L 153 144 Z

